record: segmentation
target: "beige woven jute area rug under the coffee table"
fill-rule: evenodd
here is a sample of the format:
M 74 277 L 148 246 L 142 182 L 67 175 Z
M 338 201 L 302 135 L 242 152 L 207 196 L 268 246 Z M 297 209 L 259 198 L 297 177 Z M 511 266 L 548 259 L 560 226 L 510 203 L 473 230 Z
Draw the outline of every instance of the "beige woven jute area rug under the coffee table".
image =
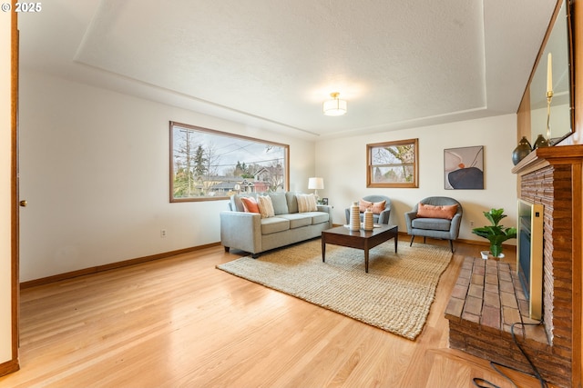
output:
M 217 268 L 414 340 L 451 257 L 446 247 L 401 242 L 395 254 L 391 240 L 371 249 L 366 274 L 362 250 L 326 244 L 322 263 L 316 239 Z

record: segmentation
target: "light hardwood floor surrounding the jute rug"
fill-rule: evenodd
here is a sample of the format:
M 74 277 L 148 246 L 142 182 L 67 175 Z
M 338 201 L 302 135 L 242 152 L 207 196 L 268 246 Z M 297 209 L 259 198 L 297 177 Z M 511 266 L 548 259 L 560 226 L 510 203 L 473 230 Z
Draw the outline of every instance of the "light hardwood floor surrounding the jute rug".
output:
M 447 347 L 445 305 L 463 257 L 482 249 L 456 244 L 414 342 L 217 270 L 240 256 L 220 246 L 29 288 L 21 370 L 0 388 L 510 386 Z

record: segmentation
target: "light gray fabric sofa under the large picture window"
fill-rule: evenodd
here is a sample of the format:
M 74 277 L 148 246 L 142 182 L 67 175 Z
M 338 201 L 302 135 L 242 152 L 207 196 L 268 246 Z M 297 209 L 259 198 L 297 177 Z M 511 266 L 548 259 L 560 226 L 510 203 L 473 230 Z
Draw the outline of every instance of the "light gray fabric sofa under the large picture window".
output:
M 330 206 L 318 205 L 317 212 L 298 212 L 296 193 L 269 193 L 275 216 L 261 218 L 261 214 L 245 213 L 241 196 L 231 195 L 228 211 L 220 212 L 220 244 L 249 252 L 253 258 L 274 248 L 299 243 L 322 235 L 332 227 Z

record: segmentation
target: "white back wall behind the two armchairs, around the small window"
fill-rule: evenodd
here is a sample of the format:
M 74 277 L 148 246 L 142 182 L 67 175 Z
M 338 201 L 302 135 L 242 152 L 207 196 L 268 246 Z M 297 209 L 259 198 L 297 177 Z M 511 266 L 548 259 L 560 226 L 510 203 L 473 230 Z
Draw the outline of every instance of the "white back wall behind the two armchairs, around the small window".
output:
M 510 170 L 512 151 L 517 146 L 517 115 L 440 124 L 402 131 L 326 139 L 316 144 L 316 174 L 324 178 L 322 197 L 334 206 L 335 224 L 345 223 L 344 209 L 364 195 L 384 194 L 392 199 L 391 223 L 406 232 L 404 213 L 427 196 L 443 195 L 457 199 L 464 207 L 460 238 L 486 243 L 472 234 L 470 221 L 487 224 L 482 212 L 504 208 L 508 215 L 502 224 L 516 224 L 517 177 Z M 419 188 L 366 188 L 366 144 L 419 139 Z M 484 145 L 484 190 L 445 190 L 444 149 Z M 509 240 L 506 244 L 516 244 Z

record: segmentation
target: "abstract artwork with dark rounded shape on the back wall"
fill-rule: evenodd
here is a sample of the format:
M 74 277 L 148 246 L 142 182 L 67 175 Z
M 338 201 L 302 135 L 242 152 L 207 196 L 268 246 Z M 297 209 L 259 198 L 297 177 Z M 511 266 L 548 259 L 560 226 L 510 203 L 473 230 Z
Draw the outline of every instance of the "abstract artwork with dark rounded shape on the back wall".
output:
M 444 150 L 446 190 L 484 189 L 484 145 Z

